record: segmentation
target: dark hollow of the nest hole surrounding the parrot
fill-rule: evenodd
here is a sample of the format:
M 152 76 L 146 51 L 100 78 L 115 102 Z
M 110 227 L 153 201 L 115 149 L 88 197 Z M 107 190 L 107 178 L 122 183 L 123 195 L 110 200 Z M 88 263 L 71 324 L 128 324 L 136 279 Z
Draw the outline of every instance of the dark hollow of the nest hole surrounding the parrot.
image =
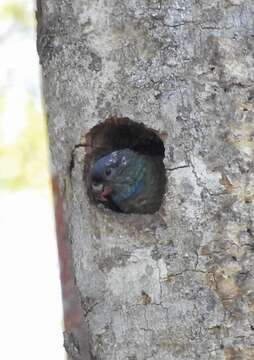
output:
M 161 167 L 158 196 L 162 202 L 166 184 L 166 172 L 163 164 L 165 148 L 162 140 L 165 137 L 165 133 L 160 134 L 156 130 L 146 127 L 143 123 L 137 123 L 129 118 L 111 117 L 94 126 L 85 137 L 84 178 L 90 201 L 93 203 L 100 202 L 95 198 L 91 188 L 91 169 L 96 161 L 114 151 L 130 149 L 138 154 L 151 157 L 152 161 L 155 161 L 159 168 Z M 162 193 L 163 195 L 161 195 Z M 154 213 L 159 209 L 161 202 L 157 208 L 127 212 Z M 103 202 L 103 204 L 113 211 L 126 212 L 119 209 L 118 206 L 114 206 L 112 201 Z

